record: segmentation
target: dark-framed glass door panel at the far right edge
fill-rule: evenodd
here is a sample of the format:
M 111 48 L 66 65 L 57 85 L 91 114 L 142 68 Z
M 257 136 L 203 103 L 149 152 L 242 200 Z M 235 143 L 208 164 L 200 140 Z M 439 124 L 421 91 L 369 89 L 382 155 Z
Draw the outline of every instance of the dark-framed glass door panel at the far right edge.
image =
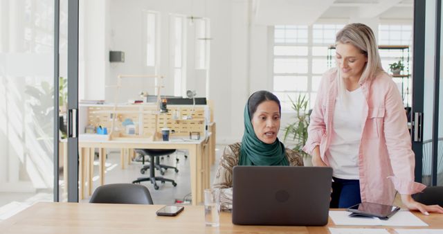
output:
M 415 0 L 411 130 L 415 180 L 426 186 L 443 185 L 441 8 L 441 1 Z

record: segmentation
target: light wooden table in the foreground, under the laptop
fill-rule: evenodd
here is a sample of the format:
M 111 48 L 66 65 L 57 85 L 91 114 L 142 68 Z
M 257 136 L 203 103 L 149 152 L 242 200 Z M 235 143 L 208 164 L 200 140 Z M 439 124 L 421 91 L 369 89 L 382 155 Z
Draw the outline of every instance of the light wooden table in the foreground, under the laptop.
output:
M 4 234 L 329 233 L 329 227 L 352 228 L 352 226 L 336 226 L 330 218 L 327 226 L 237 226 L 232 224 L 230 213 L 221 213 L 220 226 L 213 228 L 204 225 L 203 206 L 186 206 L 177 217 L 156 216 L 155 211 L 162 206 L 40 202 L 0 222 L 0 230 Z M 412 228 L 443 228 L 443 215 L 431 214 L 426 217 L 420 213 L 414 214 L 429 226 Z M 394 227 L 367 228 L 386 228 L 390 233 L 395 233 Z

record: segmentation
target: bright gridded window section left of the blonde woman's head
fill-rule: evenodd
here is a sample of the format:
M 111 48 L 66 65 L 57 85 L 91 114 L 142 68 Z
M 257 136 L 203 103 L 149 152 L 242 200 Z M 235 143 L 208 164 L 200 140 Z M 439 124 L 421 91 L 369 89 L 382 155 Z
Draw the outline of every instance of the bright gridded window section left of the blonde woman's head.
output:
M 321 75 L 327 71 L 327 48 L 344 24 L 275 26 L 273 30 L 273 93 L 284 111 L 291 110 L 290 99 L 309 98 L 314 107 Z M 334 65 L 334 64 L 333 64 Z

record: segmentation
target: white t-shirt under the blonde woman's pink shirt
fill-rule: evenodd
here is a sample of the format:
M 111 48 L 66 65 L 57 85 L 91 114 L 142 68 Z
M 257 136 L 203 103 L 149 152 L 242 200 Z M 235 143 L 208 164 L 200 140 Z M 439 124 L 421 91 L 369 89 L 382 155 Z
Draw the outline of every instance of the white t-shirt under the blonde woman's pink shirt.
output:
M 336 98 L 332 141 L 326 154 L 329 165 L 334 169 L 334 177 L 359 179 L 359 146 L 365 96 L 360 87 L 346 91 L 345 95 L 346 104 Z

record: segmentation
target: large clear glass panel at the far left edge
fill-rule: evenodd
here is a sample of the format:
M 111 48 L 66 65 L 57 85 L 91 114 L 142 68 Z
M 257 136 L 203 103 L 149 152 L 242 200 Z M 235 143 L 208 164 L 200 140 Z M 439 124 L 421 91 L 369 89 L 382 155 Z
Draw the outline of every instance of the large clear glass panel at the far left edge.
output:
M 0 1 L 0 208 L 54 197 L 54 0 Z

